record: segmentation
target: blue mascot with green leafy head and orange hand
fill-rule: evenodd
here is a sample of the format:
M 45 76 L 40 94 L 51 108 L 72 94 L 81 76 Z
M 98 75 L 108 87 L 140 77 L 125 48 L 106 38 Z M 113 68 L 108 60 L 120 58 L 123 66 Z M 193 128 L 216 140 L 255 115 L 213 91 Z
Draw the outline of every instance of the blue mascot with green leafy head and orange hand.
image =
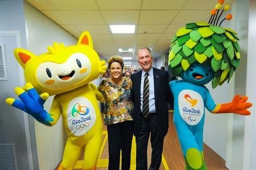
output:
M 223 2 L 219 1 L 211 11 L 208 23 L 187 23 L 179 29 L 170 46 L 169 68 L 182 79 L 170 82 L 169 86 L 174 95 L 174 124 L 187 170 L 207 169 L 203 156 L 205 108 L 214 114 L 249 115 L 247 109 L 252 106 L 247 96 L 240 95 L 230 103 L 216 104 L 204 86 L 210 81 L 213 88 L 229 82 L 240 63 L 237 33 L 217 26 Z M 227 5 L 222 12 L 226 10 Z M 225 19 L 231 19 L 231 14 Z

